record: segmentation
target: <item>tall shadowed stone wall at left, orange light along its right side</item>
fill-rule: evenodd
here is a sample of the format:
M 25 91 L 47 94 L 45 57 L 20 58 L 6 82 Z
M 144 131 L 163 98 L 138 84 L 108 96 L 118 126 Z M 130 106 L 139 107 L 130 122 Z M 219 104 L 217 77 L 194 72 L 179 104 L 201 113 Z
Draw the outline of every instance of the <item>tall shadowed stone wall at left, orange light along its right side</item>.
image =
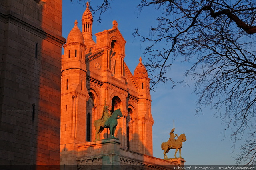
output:
M 7 169 L 60 164 L 61 34 L 62 0 L 0 1 L 0 164 Z

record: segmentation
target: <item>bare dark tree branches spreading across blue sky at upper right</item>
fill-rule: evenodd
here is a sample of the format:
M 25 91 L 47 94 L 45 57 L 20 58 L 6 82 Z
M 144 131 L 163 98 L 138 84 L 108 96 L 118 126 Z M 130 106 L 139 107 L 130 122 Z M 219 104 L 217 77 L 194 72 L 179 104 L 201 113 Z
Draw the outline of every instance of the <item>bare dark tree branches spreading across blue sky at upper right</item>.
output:
M 234 141 L 240 140 L 247 128 L 255 132 L 256 44 L 251 35 L 256 33 L 256 2 L 141 0 L 138 7 L 142 10 L 150 5 L 162 10 L 158 26 L 151 28 L 154 36 L 145 37 L 138 29 L 134 36 L 152 42 L 145 50 L 145 55 L 151 56 L 145 64 L 152 77 L 151 88 L 167 80 L 174 83 L 165 76 L 172 66 L 170 58 L 185 56 L 185 62 L 194 62 L 185 76 L 196 80 L 197 111 L 207 106 L 218 111 L 226 108 L 220 116 L 227 123 L 226 129 L 233 128 L 230 135 Z M 166 48 L 157 46 L 161 42 Z M 252 141 L 246 141 L 245 146 Z M 255 156 L 255 151 L 241 149 L 241 156 Z M 245 158 L 238 157 L 238 162 Z M 255 163 L 255 157 L 247 161 Z

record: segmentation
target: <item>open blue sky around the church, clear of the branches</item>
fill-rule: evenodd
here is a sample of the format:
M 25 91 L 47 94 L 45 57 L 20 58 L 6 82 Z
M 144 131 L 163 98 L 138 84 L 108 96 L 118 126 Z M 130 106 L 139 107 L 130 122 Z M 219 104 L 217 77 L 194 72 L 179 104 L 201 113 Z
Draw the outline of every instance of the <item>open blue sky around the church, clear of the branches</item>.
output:
M 73 1 L 62 1 L 62 36 L 64 38 L 67 38 L 68 33 L 74 27 L 75 20 L 78 21 L 80 30 L 82 28 L 81 19 L 86 9 L 86 1 L 82 3 L 78 0 Z M 100 4 L 101 1 L 93 2 Z M 95 8 L 97 4 L 93 2 L 90 5 Z M 101 22 L 97 22 L 97 14 L 94 16 L 93 39 L 96 42 L 94 34 L 112 28 L 112 21 L 116 20 L 118 29 L 126 40 L 124 61 L 133 73 L 140 56 L 142 62 L 147 60 L 147 56 L 143 54 L 146 43 L 142 44 L 139 38 L 132 36 L 134 28 L 138 28 L 141 34 L 148 36 L 150 26 L 157 26 L 156 16 L 160 15 L 160 11 L 154 10 L 152 6 L 139 12 L 136 8 L 139 0 L 113 0 L 111 2 L 112 9 L 102 14 Z M 173 62 L 167 74 L 178 82 L 184 79 L 183 73 L 189 66 L 189 63 L 181 62 L 178 58 Z M 154 118 L 153 156 L 164 158 L 161 144 L 169 139 L 173 120 L 175 120 L 175 134 L 185 133 L 187 138 L 181 151 L 186 165 L 234 165 L 244 139 L 236 141 L 234 145 L 234 140 L 228 136 L 232 131 L 227 130 L 222 133 L 226 126 L 220 118 L 214 116 L 216 110 L 205 108 L 203 114 L 196 115 L 198 96 L 193 93 L 194 80 L 189 80 L 188 85 L 176 84 L 172 88 L 171 83 L 158 84 L 154 88 L 156 92 L 150 92 Z M 174 150 L 170 150 L 167 156 L 173 158 Z M 179 156 L 178 153 L 177 156 Z

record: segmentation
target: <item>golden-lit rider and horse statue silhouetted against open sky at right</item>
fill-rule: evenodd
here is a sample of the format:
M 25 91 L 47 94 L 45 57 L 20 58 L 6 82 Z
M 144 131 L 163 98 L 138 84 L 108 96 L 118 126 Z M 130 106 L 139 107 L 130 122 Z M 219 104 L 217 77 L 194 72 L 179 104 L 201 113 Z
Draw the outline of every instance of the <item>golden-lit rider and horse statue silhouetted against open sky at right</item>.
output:
M 185 134 L 181 134 L 178 137 L 178 139 L 175 139 L 175 137 L 178 135 L 174 134 L 174 130 L 175 128 L 171 130 L 169 140 L 167 142 L 163 142 L 161 145 L 162 150 L 164 150 L 164 159 L 168 159 L 166 154 L 169 152 L 170 149 L 176 149 L 174 157 L 177 158 L 176 157 L 177 151 L 179 150 L 179 152 L 181 153 L 182 142 L 185 142 L 187 140 Z M 181 154 L 180 154 L 180 158 L 182 158 Z

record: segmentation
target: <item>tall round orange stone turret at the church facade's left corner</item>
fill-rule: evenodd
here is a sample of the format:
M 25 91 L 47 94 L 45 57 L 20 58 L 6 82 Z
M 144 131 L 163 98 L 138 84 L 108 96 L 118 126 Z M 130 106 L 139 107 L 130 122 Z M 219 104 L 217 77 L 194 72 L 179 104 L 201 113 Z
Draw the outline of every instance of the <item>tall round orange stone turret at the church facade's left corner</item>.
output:
M 75 21 L 74 28 L 68 34 L 62 56 L 61 88 L 61 140 L 63 153 L 75 154 L 76 144 L 85 141 L 86 101 L 89 94 L 86 89 L 86 63 L 84 37 Z M 68 164 L 76 164 L 74 158 L 65 158 Z

